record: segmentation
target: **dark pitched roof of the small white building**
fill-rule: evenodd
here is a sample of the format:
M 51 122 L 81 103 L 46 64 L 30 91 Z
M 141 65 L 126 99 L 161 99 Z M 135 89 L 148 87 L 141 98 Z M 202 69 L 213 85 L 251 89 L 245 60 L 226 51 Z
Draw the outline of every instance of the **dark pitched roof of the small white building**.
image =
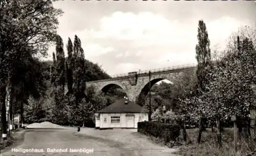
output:
M 128 103 L 125 104 L 125 101 Z M 99 110 L 97 113 L 139 113 L 142 107 L 132 101 L 121 99 Z

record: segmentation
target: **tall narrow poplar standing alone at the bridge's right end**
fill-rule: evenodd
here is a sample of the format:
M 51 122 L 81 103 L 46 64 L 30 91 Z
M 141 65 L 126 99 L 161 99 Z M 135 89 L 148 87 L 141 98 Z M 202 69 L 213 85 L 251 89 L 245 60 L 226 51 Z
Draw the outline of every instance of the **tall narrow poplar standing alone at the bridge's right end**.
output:
M 202 95 L 202 93 L 207 92 L 206 85 L 208 81 L 208 73 L 210 68 L 211 54 L 210 54 L 210 41 L 208 39 L 208 32 L 206 30 L 206 25 L 203 20 L 199 20 L 198 23 L 198 44 L 196 46 L 196 59 L 198 62 L 197 65 L 197 80 L 198 80 L 198 94 L 197 96 Z M 198 143 L 201 142 L 201 136 L 203 131 L 204 118 L 201 116 L 199 123 L 199 135 Z

